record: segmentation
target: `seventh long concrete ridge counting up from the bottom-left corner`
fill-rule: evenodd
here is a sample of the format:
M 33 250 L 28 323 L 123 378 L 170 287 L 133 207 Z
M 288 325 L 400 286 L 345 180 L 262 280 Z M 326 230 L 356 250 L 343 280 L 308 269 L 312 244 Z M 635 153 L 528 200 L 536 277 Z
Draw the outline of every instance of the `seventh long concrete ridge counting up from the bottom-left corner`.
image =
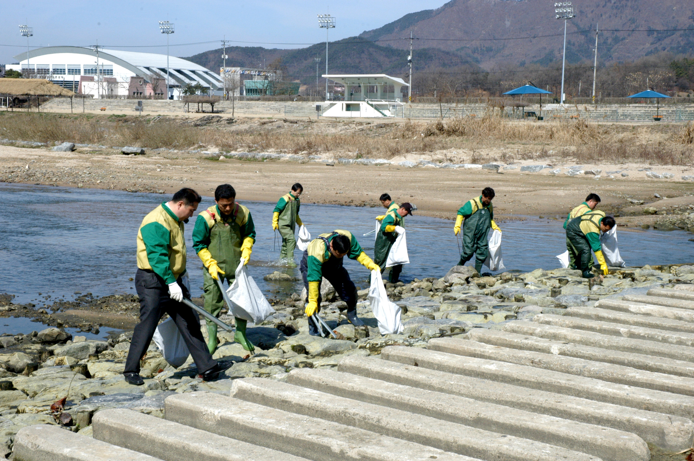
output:
M 559 371 L 414 347 L 388 346 L 381 351 L 381 355 L 385 360 L 448 371 L 448 373 L 475 376 L 642 410 L 676 414 L 690 419 L 694 416 L 694 399 L 670 392 L 608 383 Z

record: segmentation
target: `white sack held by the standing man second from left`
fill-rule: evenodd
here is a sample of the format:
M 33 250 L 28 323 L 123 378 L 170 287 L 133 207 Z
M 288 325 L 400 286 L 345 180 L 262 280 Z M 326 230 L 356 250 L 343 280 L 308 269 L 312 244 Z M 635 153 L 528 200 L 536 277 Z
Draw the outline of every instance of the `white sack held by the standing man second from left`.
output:
M 226 290 L 232 304 L 232 315 L 260 324 L 264 319 L 275 313 L 260 288 L 255 284 L 253 277 L 248 276 L 248 269 L 244 265 L 244 259 L 239 262 L 236 269 L 236 279 Z

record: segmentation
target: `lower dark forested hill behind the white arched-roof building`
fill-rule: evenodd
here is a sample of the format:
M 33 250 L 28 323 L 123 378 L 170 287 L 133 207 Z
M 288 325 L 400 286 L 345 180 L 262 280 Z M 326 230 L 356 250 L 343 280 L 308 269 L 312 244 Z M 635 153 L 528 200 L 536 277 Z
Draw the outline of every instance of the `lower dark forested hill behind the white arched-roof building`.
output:
M 446 51 L 438 48 L 418 49 L 418 58 L 423 63 L 418 69 L 442 67 L 472 66 L 477 70 L 477 59 L 466 51 Z M 313 83 L 316 78 L 316 62 L 319 62 L 319 74 L 325 74 L 325 43 L 315 44 L 301 49 L 265 49 L 261 47 L 227 47 L 227 67 L 260 67 L 271 65 L 276 59 L 282 60 L 282 66 L 291 79 L 302 83 Z M 222 67 L 222 49 L 205 51 L 185 58 L 196 64 L 219 72 Z M 389 74 L 403 78 L 407 76 L 407 51 L 393 47 L 384 47 L 362 37 L 349 37 L 337 42 L 330 42 L 328 47 L 328 72 L 330 74 Z

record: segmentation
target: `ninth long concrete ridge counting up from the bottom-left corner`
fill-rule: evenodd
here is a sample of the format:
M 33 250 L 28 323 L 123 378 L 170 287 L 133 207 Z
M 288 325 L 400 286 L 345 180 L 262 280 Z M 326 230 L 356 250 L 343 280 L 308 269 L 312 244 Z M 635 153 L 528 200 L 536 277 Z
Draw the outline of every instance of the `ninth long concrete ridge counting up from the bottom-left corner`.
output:
M 595 362 L 606 364 L 623 365 L 632 369 L 655 371 L 659 374 L 664 373 L 694 378 L 694 363 L 685 362 L 684 360 L 613 351 L 600 347 L 584 346 L 583 344 L 573 344 L 565 341 L 548 340 L 543 337 L 520 335 L 507 331 L 486 330 L 483 328 L 474 328 L 467 333 L 466 338 L 492 344 L 493 346 L 524 349 L 525 351 L 536 351 L 552 355 L 566 355 L 567 357 L 594 360 Z

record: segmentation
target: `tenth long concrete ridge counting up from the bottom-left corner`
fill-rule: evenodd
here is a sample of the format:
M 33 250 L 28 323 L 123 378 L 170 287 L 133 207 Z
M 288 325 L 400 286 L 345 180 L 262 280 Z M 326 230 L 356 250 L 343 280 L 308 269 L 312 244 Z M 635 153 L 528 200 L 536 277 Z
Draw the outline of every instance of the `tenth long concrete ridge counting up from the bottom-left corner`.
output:
M 602 335 L 592 331 L 538 324 L 533 321 L 512 321 L 504 325 L 504 330 L 521 335 L 543 337 L 548 340 L 573 342 L 602 349 L 613 349 L 614 351 L 641 353 L 694 362 L 692 348 L 686 346 L 674 346 L 655 341 L 635 340 L 629 337 Z

